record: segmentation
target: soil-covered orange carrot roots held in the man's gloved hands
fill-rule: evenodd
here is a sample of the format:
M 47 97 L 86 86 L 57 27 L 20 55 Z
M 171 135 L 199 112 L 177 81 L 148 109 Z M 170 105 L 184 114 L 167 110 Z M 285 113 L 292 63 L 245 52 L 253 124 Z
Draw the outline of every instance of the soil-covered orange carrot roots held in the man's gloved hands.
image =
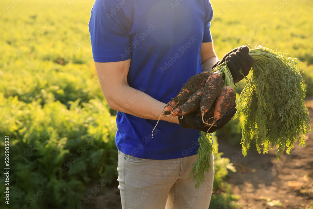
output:
M 160 117 L 183 117 L 198 111 L 196 117 L 202 118 L 203 123 L 211 128 L 236 106 L 235 90 L 231 86 L 223 87 L 223 84 L 223 77 L 218 72 L 205 71 L 192 76 L 177 96 L 167 103 Z

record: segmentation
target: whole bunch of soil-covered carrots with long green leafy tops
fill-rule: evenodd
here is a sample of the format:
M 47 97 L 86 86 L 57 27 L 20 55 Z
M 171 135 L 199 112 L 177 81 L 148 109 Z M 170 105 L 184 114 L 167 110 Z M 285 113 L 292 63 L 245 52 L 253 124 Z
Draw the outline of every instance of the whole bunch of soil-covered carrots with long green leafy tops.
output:
M 305 145 L 311 130 L 308 109 L 304 105 L 305 84 L 300 74 L 300 62 L 266 47 L 250 50 L 254 59 L 251 78 L 247 78 L 238 99 L 235 117 L 243 116 L 242 151 L 247 154 L 251 144 L 263 154 L 276 148 L 280 159 L 289 154 L 295 141 Z M 212 128 L 231 108 L 236 107 L 233 78 L 225 62 L 210 72 L 192 76 L 181 91 L 167 103 L 161 116 L 184 116 L 198 111 L 196 117 Z M 160 116 L 160 117 L 161 117 Z M 191 175 L 198 188 L 204 172 L 211 169 L 210 154 L 214 149 L 211 134 L 200 132 L 197 162 Z

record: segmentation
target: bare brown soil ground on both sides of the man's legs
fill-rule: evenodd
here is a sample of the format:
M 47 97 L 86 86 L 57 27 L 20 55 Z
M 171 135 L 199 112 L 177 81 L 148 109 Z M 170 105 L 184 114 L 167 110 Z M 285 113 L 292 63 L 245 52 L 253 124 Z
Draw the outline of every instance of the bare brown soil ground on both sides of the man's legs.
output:
M 307 100 L 311 123 L 313 100 Z M 250 149 L 247 156 L 219 139 L 219 152 L 233 162 L 237 172 L 231 172 L 228 183 L 242 209 L 313 209 L 313 131 L 306 137 L 306 145 L 295 148 L 290 155 L 276 161 L 274 150 L 259 154 Z M 105 187 L 88 204 L 88 209 L 121 209 L 118 182 Z M 211 208 L 211 207 L 210 207 Z

